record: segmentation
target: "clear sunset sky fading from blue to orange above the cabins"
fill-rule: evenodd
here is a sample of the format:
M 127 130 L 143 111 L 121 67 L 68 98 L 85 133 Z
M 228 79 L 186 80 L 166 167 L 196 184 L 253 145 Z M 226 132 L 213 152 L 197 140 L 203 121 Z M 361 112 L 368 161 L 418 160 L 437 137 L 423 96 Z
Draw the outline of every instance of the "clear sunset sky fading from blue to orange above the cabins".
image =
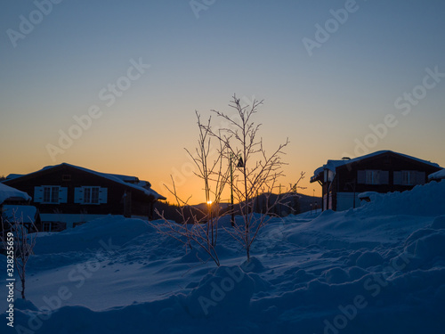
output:
M 67 162 L 205 199 L 195 110 L 290 143 L 283 190 L 328 159 L 392 150 L 445 167 L 441 1 L 5 0 L 0 175 Z M 218 126 L 218 120 L 214 119 Z M 315 191 L 315 192 L 314 192 Z

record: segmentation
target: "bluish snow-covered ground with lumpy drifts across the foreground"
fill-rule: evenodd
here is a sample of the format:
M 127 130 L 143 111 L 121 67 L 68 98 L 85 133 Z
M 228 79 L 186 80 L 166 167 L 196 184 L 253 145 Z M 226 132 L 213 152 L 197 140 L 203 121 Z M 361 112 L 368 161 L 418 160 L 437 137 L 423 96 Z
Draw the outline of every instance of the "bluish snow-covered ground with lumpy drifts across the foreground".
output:
M 249 263 L 223 229 L 218 244 L 220 267 L 136 219 L 42 233 L 1 332 L 445 332 L 445 181 L 273 219 Z

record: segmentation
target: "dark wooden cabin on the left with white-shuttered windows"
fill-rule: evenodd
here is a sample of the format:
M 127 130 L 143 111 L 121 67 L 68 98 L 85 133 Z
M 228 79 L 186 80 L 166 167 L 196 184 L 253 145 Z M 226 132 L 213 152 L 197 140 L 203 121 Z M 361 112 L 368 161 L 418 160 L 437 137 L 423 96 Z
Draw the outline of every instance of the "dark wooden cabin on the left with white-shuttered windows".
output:
M 40 212 L 39 231 L 61 231 L 106 215 L 151 219 L 153 204 L 166 200 L 135 176 L 105 174 L 62 163 L 4 184 L 28 193 Z

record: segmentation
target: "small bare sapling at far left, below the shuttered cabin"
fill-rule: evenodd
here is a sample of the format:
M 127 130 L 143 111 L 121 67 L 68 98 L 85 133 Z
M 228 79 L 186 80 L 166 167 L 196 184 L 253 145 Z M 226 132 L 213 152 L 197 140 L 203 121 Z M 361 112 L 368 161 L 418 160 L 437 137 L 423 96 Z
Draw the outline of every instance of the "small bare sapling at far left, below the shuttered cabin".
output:
M 9 246 L 9 240 L 13 240 L 14 264 L 19 273 L 21 283 L 21 297 L 25 298 L 26 288 L 26 266 L 28 259 L 34 254 L 33 248 L 36 245 L 37 229 L 34 221 L 29 217 L 29 223 L 24 223 L 23 215 L 16 217 L 16 212 L 12 212 L 12 218 L 1 217 L 2 232 L 0 240 L 5 249 Z M 8 254 L 9 255 L 9 254 Z

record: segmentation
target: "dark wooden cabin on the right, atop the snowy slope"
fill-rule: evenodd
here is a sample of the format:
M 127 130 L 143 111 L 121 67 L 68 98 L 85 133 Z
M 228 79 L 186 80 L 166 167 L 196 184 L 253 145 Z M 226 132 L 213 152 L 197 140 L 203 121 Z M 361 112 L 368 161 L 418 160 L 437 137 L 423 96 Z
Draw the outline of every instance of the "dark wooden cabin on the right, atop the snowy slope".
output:
M 341 211 L 360 207 L 361 192 L 408 191 L 441 169 L 406 154 L 376 151 L 355 159 L 328 160 L 315 170 L 311 183 L 321 185 L 323 210 Z

